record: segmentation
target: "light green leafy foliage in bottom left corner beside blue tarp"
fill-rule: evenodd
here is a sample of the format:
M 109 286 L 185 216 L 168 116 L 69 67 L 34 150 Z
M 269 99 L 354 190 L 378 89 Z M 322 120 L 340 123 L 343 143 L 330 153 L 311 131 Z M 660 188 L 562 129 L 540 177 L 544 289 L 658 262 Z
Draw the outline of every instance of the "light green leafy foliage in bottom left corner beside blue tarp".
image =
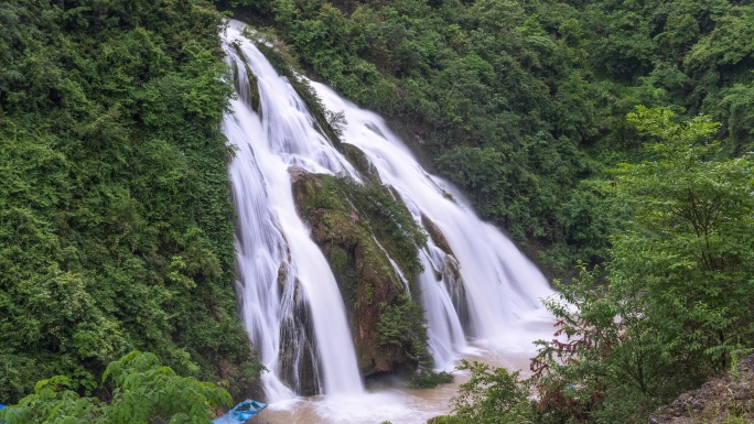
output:
M 138 351 L 111 362 L 104 380 L 115 384 L 111 399 L 79 398 L 57 376 L 36 383 L 34 393 L 0 412 L 9 423 L 208 423 L 230 395 L 213 383 L 177 376 L 152 354 Z

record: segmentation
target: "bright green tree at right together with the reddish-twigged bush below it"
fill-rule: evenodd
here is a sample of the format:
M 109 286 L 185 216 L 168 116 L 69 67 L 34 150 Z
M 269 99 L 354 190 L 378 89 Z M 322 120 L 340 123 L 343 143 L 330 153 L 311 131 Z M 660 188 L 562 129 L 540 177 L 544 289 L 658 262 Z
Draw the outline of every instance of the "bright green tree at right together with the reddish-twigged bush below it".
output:
M 542 406 L 579 422 L 645 422 L 754 346 L 754 164 L 719 159 L 704 117 L 637 107 L 628 120 L 650 140 L 646 161 L 613 171 L 633 219 L 605 274 L 582 267 L 546 302 L 559 339 L 532 365 Z

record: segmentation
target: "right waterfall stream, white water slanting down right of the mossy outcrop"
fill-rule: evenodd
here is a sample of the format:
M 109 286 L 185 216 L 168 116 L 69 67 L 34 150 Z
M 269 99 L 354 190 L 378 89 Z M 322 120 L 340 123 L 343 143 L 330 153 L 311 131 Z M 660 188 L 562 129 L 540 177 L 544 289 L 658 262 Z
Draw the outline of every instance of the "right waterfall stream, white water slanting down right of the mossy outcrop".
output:
M 451 281 L 453 273 L 445 272 L 455 264 L 453 258 L 431 242 L 423 252 L 426 270 L 420 283 L 435 359 L 442 365 L 452 357 L 449 352 L 463 347 L 462 324 L 465 336 L 531 350 L 528 324 L 542 318 L 540 298 L 552 293 L 541 272 L 500 230 L 482 221 L 452 185 L 427 173 L 379 116 L 359 109 L 325 85 L 313 86 L 327 109 L 345 115 L 344 141 L 367 155 L 419 224 L 424 215 L 440 228 L 457 260 L 460 287 Z M 442 273 L 442 284 L 433 271 Z M 454 287 L 459 293 L 453 293 Z

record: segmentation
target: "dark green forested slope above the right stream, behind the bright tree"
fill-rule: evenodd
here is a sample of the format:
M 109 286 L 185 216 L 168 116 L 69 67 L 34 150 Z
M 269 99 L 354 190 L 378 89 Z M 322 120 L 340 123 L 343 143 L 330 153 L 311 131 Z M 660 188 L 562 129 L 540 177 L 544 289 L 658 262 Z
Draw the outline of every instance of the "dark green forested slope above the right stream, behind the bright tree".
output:
M 752 148 L 754 9 L 740 1 L 246 0 L 313 76 L 390 119 L 557 274 L 625 219 L 590 178 L 642 157 L 626 113 L 669 107 Z

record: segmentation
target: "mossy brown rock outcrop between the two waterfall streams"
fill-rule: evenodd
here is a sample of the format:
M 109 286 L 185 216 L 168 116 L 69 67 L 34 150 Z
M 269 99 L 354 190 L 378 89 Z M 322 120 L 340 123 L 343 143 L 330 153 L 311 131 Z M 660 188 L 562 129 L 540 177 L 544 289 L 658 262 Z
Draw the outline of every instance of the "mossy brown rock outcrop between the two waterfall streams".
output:
M 341 289 L 362 373 L 409 372 L 428 362 L 422 309 L 409 296 L 426 235 L 379 184 L 290 172 L 299 215 Z

